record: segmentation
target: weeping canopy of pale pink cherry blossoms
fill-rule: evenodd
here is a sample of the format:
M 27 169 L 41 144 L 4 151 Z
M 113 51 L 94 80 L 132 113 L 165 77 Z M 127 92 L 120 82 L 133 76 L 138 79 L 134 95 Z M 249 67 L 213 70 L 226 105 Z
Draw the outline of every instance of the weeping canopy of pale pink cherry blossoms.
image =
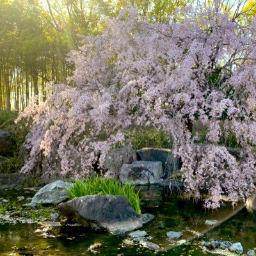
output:
M 182 160 L 189 194 L 207 191 L 209 208 L 220 206 L 221 195 L 244 200 L 256 176 L 256 22 L 244 26 L 231 12 L 185 6 L 152 24 L 131 8 L 100 35 L 84 37 L 69 54 L 68 83 L 52 84 L 45 102 L 20 115 L 33 117 L 22 172 L 44 156 L 42 175 L 90 176 L 136 129 L 156 127 Z M 204 143 L 195 122 L 205 127 Z

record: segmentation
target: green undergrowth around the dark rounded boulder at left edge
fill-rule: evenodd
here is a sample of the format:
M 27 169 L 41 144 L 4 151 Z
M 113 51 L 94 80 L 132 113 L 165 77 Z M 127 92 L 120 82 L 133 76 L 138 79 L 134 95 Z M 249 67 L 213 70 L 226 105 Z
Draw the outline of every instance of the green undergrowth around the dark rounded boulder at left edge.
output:
M 19 172 L 22 167 L 19 159 L 19 150 L 29 130 L 24 120 L 19 122 L 19 125 L 15 124 L 17 116 L 18 113 L 15 111 L 0 111 L 0 129 L 10 132 L 17 143 L 17 147 L 13 151 L 13 156 L 8 157 L 7 161 L 0 164 L 0 173 Z

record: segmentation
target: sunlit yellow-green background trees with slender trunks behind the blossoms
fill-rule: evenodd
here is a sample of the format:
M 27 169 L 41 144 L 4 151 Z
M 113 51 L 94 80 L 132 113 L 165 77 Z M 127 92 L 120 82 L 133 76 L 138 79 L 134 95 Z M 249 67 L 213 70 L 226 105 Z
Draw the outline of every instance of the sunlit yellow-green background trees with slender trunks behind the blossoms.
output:
M 79 35 L 95 35 L 106 18 L 134 6 L 150 22 L 168 22 L 168 15 L 193 0 L 0 0 L 0 109 L 20 111 L 47 82 L 65 82 L 72 65 L 65 58 L 78 49 Z M 212 4 L 214 1 L 209 1 Z M 244 1 L 240 1 L 244 3 Z M 255 16 L 254 1 L 242 6 Z M 228 4 L 228 0 L 227 0 Z M 227 6 L 227 5 L 226 5 Z

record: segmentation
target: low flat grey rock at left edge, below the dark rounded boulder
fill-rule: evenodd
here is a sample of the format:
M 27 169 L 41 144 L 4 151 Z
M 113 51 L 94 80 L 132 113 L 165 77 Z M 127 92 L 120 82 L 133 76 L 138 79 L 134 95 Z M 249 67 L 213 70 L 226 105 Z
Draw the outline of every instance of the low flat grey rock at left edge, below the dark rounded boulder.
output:
M 26 175 L 22 173 L 0 174 L 0 189 L 22 188 L 27 182 Z

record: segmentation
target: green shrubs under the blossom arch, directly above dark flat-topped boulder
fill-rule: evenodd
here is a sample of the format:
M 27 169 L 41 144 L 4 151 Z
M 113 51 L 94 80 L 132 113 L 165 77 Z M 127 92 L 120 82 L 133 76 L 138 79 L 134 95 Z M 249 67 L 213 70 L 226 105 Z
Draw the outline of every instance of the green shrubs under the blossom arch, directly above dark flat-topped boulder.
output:
M 143 131 L 136 131 L 131 136 L 132 148 L 168 148 L 169 136 L 164 131 L 145 128 Z

